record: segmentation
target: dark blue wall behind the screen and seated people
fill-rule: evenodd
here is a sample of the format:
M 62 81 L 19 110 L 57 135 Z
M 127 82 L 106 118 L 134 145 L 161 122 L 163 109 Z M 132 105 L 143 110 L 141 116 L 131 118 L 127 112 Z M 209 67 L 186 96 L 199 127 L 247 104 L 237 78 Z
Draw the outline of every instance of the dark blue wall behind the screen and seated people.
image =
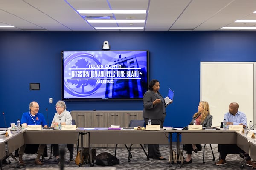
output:
M 197 112 L 201 61 L 255 61 L 254 31 L 0 31 L 0 111 L 7 126 L 16 122 L 29 102 L 52 121 L 61 99 L 61 51 L 149 50 L 150 79 L 160 81 L 160 93 L 175 91 L 164 125 L 184 127 Z M 29 83 L 40 83 L 30 91 Z M 53 103 L 49 103 L 49 98 Z M 69 101 L 67 110 L 143 110 L 142 101 Z M 210 105 L 210 103 L 209 103 Z M 212 113 L 214 115 L 214 113 Z M 0 127 L 5 127 L 3 117 Z

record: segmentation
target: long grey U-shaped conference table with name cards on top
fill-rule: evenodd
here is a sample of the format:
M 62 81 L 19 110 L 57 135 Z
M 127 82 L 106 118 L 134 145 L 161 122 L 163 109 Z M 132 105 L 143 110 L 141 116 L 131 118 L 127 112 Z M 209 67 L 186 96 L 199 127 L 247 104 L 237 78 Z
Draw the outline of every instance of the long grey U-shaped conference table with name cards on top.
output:
M 170 159 L 172 166 L 172 133 L 177 133 L 177 147 L 179 156 L 181 144 L 237 144 L 245 152 L 249 153 L 252 159 L 256 160 L 256 140 L 250 138 L 246 133 L 239 133 L 231 130 L 88 130 L 78 128 L 76 130 L 22 130 L 6 137 L 0 143 L 0 156 L 5 156 L 6 150 L 2 151 L 7 144 L 7 153 L 23 144 L 67 144 L 78 142 L 78 135 L 88 135 L 88 147 L 90 144 L 169 144 Z M 181 140 L 180 140 L 181 136 Z M 80 161 L 81 162 L 81 161 Z M 183 165 L 183 160 L 180 162 Z

